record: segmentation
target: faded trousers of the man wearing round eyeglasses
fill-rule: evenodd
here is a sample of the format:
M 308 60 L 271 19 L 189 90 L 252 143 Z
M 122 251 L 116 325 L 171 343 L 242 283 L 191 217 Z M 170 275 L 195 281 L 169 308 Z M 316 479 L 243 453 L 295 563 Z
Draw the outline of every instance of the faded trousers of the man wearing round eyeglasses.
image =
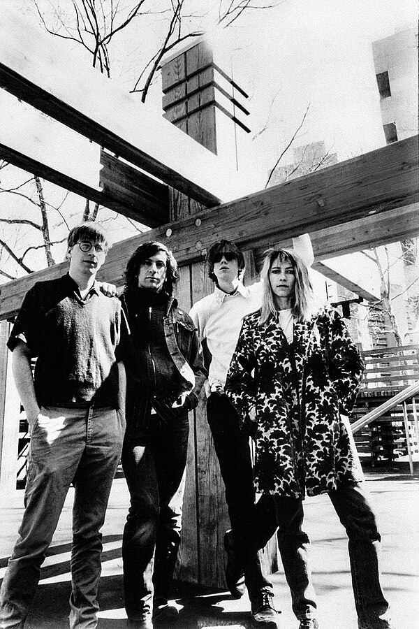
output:
M 102 535 L 124 437 L 117 410 L 42 407 L 31 444 L 19 539 L 0 591 L 0 628 L 24 626 L 68 488 L 75 486 L 70 626 L 97 626 Z

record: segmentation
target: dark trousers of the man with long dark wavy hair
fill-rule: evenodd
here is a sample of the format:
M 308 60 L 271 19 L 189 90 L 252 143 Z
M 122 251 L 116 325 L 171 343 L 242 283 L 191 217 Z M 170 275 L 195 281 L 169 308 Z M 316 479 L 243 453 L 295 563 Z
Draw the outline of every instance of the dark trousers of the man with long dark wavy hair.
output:
M 124 539 L 128 618 L 152 612 L 153 595 L 167 598 L 182 528 L 187 412 L 151 414 L 130 426 L 122 465 L 131 498 Z

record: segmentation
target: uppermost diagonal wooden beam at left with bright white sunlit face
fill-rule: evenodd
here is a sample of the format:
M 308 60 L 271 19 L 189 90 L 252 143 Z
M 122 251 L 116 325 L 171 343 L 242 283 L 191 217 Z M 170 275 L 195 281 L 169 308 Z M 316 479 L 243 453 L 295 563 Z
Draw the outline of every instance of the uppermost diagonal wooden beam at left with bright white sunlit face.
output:
M 0 3 L 0 85 L 206 207 L 246 194 L 214 154 Z

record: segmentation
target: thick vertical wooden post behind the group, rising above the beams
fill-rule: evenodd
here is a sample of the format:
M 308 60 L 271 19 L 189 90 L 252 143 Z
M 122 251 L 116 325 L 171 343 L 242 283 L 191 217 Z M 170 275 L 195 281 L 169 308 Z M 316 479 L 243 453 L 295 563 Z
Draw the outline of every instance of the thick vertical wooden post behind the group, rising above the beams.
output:
M 162 66 L 165 117 L 207 149 L 237 166 L 240 143 L 249 129 L 244 106 L 247 94 L 219 65 L 205 41 L 189 45 L 166 58 Z M 182 159 L 182 155 L 179 155 Z M 170 192 L 170 220 L 193 215 L 202 206 L 178 191 Z M 199 219 L 197 219 L 199 220 Z M 198 223 L 197 223 L 198 226 Z M 165 241 L 170 247 L 170 230 Z M 196 249 L 202 249 L 199 240 Z M 248 281 L 254 281 L 252 252 L 247 252 Z M 205 263 L 180 269 L 177 298 L 184 308 L 214 289 Z M 193 415 L 193 417 L 192 417 Z M 186 468 L 184 534 L 179 552 L 177 578 L 225 588 L 223 535 L 229 528 L 224 486 L 205 412 L 205 395 L 191 414 L 191 435 Z M 263 554 L 267 572 L 276 569 L 276 546 Z

